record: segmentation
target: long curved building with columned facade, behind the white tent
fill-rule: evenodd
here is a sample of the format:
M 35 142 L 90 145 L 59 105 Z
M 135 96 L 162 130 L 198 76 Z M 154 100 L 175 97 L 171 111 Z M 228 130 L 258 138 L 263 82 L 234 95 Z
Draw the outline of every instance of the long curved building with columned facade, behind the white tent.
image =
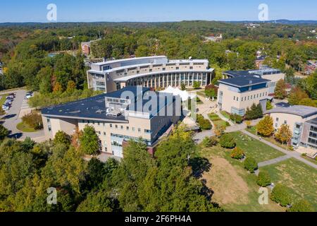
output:
M 211 83 L 213 69 L 206 59 L 169 60 L 165 56 L 118 59 L 92 64 L 87 71 L 88 86 L 111 93 L 127 86 L 146 88 L 187 88 L 198 81 L 201 87 Z

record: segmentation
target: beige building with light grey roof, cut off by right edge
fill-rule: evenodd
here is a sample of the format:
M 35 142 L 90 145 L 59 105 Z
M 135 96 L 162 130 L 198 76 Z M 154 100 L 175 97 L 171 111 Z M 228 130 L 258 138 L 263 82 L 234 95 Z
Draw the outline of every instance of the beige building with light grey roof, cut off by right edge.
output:
M 280 103 L 266 112 L 273 118 L 275 131 L 282 124 L 290 126 L 292 145 L 317 149 L 317 107 Z

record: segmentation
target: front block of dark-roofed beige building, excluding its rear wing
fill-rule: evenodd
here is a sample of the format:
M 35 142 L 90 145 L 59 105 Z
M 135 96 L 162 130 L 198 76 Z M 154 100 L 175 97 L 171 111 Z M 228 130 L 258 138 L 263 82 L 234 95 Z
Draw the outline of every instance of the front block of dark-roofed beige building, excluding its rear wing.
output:
M 263 78 L 228 78 L 219 81 L 218 108 L 230 114 L 244 116 L 253 104 L 266 110 L 269 81 Z

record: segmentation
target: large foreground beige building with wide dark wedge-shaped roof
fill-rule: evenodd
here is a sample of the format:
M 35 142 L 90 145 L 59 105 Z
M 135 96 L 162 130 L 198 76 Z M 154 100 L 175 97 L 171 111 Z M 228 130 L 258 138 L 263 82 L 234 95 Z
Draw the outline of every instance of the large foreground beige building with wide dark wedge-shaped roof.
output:
M 73 135 L 85 126 L 93 126 L 100 150 L 123 157 L 123 145 L 142 138 L 154 153 L 161 136 L 166 135 L 181 116 L 181 101 L 168 93 L 129 86 L 84 100 L 42 109 L 44 131 L 54 138 L 58 131 Z

